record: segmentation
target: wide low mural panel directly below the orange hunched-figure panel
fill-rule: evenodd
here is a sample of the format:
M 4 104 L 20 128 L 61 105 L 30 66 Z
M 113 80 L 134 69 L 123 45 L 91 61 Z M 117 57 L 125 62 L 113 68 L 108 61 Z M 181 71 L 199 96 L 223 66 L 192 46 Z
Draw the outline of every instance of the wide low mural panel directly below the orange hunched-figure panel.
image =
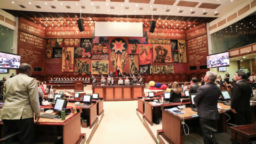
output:
M 173 65 L 150 66 L 150 74 L 173 74 Z

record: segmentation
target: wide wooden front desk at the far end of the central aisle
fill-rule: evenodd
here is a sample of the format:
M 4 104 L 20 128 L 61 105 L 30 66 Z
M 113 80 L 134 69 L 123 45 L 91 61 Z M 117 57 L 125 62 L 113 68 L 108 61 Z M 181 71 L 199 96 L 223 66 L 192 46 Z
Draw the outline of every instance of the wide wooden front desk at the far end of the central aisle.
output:
M 144 92 L 143 85 L 92 86 L 93 93 L 99 93 L 104 101 L 137 100 Z

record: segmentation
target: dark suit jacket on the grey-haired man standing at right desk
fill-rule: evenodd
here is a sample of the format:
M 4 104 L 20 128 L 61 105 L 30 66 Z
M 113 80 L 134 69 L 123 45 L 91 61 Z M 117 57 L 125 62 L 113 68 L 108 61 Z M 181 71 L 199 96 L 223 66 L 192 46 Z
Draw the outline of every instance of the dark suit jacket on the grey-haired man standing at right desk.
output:
M 197 115 L 206 119 L 217 120 L 220 118 L 217 103 L 221 95 L 220 88 L 215 83 L 207 83 L 198 87 L 194 97 L 197 106 Z

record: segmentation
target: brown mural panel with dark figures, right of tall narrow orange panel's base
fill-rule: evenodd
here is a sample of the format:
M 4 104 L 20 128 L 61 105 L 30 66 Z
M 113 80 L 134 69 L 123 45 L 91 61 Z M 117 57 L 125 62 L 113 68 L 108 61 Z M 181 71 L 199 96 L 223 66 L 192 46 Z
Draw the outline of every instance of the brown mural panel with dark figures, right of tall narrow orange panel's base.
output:
M 91 58 L 75 59 L 75 74 L 91 74 Z

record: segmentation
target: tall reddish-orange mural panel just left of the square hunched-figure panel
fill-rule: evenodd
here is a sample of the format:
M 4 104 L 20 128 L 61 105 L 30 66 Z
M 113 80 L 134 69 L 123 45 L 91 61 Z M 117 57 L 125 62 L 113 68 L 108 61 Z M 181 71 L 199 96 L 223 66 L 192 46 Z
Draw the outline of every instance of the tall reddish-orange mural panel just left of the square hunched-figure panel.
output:
M 139 65 L 153 65 L 153 45 L 138 44 Z

